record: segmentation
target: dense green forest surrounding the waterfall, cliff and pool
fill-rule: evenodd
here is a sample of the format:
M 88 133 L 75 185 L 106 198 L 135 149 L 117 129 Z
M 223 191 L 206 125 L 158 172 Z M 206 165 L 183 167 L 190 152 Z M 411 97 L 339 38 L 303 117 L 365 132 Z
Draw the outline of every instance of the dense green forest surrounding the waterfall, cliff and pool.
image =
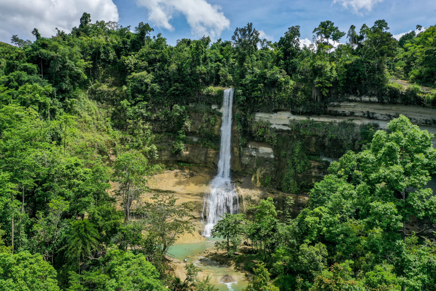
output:
M 194 229 L 188 210 L 167 193 L 132 207 L 165 167 L 154 162 L 156 141 L 169 137 L 172 153 L 183 152 L 187 106 L 219 104 L 224 87 L 235 88 L 241 144 L 274 143 L 256 111 L 323 113 L 349 95 L 436 106 L 436 26 L 417 29 L 397 41 L 385 20 L 348 32 L 324 21 L 301 48 L 299 26 L 272 43 L 249 23 L 231 40 L 170 46 L 148 24 L 93 23 L 84 13 L 71 33 L 46 38 L 35 28 L 33 41 L 1 43 L 0 286 L 212 291 L 192 265 L 185 281 L 167 272 L 169 247 Z M 247 291 L 436 290 L 434 234 L 405 232 L 412 215 L 436 223 L 436 197 L 423 189 L 436 171 L 431 140 L 405 116 L 391 121 L 330 165 L 297 217 L 270 199 L 226 215 L 215 234 L 229 240 L 218 248 L 232 256 L 241 237 L 258 242 L 244 255 L 255 268 Z M 113 195 L 109 181 L 120 185 Z

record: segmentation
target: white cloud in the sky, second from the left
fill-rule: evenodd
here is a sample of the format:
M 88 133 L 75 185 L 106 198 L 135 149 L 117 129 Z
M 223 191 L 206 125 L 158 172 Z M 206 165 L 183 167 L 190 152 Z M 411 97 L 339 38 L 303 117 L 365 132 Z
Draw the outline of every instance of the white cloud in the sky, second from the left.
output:
M 173 31 L 170 21 L 177 13 L 182 13 L 195 35 L 209 35 L 215 38 L 230 27 L 230 20 L 224 16 L 221 7 L 211 5 L 206 0 L 137 0 L 139 6 L 149 10 L 148 20 L 158 27 Z

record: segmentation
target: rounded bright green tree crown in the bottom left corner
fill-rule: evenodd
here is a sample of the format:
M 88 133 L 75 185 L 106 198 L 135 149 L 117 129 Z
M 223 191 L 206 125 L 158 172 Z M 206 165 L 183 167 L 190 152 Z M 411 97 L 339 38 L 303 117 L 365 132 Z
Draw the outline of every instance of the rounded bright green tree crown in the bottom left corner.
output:
M 0 253 L 0 285 L 4 291 L 59 291 L 55 269 L 28 251 Z

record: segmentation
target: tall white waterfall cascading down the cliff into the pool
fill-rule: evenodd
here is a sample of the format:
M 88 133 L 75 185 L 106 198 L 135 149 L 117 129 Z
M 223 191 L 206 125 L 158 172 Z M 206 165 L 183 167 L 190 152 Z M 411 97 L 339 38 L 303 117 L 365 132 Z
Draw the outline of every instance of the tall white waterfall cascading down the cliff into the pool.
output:
M 219 151 L 218 174 L 209 183 L 210 193 L 204 196 L 202 217 L 206 213 L 203 236 L 210 237 L 219 216 L 239 211 L 239 198 L 230 182 L 230 158 L 232 152 L 232 105 L 234 89 L 226 89 L 222 101 L 221 147 Z

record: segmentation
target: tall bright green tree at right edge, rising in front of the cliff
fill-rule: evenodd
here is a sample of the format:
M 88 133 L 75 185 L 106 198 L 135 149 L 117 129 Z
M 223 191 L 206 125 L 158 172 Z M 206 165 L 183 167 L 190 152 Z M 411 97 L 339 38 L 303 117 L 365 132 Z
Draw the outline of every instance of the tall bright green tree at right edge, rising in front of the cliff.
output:
M 436 149 L 431 142 L 433 134 L 421 131 L 404 115 L 389 122 L 388 129 L 391 133 L 379 130 L 374 135 L 371 154 L 375 163 L 373 167 L 370 166 L 374 172 L 370 174 L 364 171 L 364 175 L 371 178 L 375 184 L 374 190 L 383 193 L 383 196 L 379 196 L 382 201 L 392 201 L 396 205 L 403 218 L 402 233 L 405 239 L 405 223 L 410 215 L 422 219 L 430 213 L 428 198 L 432 196 L 432 191 L 423 189 L 423 185 L 430 180 L 430 174 L 435 172 Z M 377 168 L 374 169 L 374 166 Z M 383 182 L 386 184 L 380 184 Z M 410 188 L 413 190 L 407 191 Z M 386 191 L 392 196 L 386 197 Z M 400 201 L 394 198 L 396 191 L 401 194 Z

